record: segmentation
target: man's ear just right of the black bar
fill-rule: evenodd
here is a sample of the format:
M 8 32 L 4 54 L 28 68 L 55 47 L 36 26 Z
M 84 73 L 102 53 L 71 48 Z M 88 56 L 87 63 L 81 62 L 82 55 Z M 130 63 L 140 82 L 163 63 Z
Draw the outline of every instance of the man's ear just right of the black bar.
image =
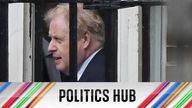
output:
M 89 31 L 86 31 L 83 36 L 83 48 L 86 49 L 91 43 L 92 34 Z

